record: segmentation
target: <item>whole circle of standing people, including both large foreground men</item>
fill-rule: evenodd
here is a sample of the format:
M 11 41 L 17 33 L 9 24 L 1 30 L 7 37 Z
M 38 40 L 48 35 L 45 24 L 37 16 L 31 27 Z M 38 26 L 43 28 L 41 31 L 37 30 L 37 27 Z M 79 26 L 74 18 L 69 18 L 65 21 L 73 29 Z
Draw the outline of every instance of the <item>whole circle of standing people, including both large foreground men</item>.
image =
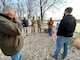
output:
M 56 49 L 53 54 L 50 54 L 53 58 L 58 59 L 61 47 L 64 46 L 62 59 L 66 58 L 68 53 L 68 45 L 73 36 L 73 32 L 76 27 L 76 19 L 71 15 L 71 7 L 67 7 L 64 11 L 64 16 L 55 31 L 56 37 Z M 38 17 L 37 22 L 35 18 L 32 19 L 32 32 L 35 33 L 35 23 L 38 25 L 38 32 L 41 32 L 41 20 Z M 48 24 L 49 35 L 52 36 L 52 28 L 54 27 L 54 21 L 50 18 Z M 0 13 L 0 49 L 2 52 L 11 56 L 12 60 L 20 60 L 22 57 L 21 49 L 23 47 L 22 26 L 26 32 L 28 27 L 28 20 L 24 18 L 23 25 L 16 17 L 16 10 L 11 6 L 5 6 L 2 13 Z M 24 33 L 26 36 L 27 34 Z

